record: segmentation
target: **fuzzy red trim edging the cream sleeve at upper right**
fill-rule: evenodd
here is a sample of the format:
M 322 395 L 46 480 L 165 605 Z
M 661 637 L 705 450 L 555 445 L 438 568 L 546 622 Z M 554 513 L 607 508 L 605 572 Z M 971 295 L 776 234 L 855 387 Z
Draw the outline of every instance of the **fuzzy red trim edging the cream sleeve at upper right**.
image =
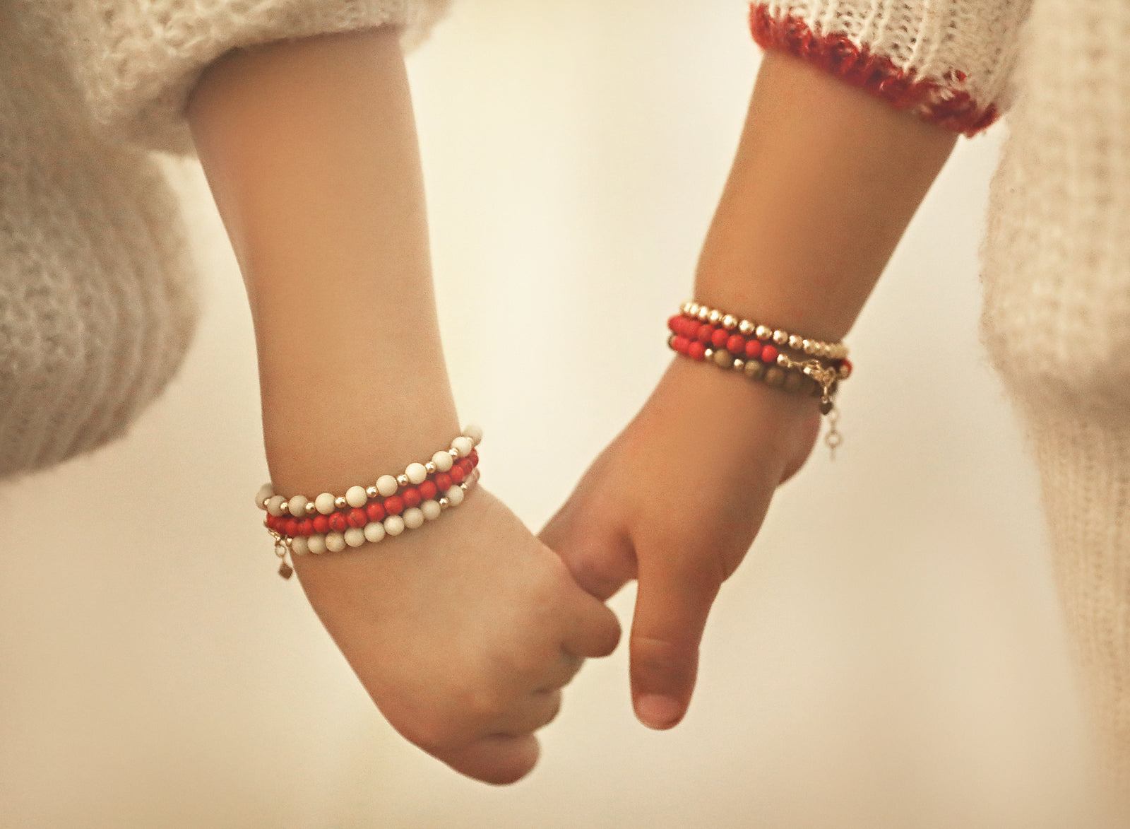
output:
M 951 69 L 942 78 L 922 78 L 913 69 L 857 45 L 844 34 L 809 28 L 792 15 L 774 16 L 767 3 L 750 3 L 749 28 L 762 49 L 780 49 L 883 98 L 899 110 L 954 132 L 975 135 L 999 116 L 996 104 L 981 106 L 963 88 L 966 75 Z

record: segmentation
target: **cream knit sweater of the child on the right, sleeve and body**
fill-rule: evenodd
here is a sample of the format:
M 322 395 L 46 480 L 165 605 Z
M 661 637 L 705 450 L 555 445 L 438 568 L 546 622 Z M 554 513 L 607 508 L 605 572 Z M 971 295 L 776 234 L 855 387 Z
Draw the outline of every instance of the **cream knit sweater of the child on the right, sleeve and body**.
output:
M 755 3 L 751 20 L 765 45 L 841 76 L 843 60 L 806 44 L 888 57 L 938 95 L 957 78 L 976 112 L 1017 93 L 982 245 L 982 331 L 1040 466 L 1103 763 L 1130 798 L 1130 3 L 810 0 Z M 869 88 L 902 102 L 897 83 Z M 940 121 L 929 98 L 915 109 Z

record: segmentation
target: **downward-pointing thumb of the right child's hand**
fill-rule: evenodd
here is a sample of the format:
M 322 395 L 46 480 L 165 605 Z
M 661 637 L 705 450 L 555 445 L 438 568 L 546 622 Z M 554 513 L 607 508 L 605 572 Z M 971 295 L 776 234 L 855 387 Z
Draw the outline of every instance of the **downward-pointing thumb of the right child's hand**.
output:
M 701 562 L 696 556 L 669 561 L 640 556 L 632 621 L 632 701 L 636 717 L 649 728 L 672 727 L 690 705 L 698 644 L 722 584 Z

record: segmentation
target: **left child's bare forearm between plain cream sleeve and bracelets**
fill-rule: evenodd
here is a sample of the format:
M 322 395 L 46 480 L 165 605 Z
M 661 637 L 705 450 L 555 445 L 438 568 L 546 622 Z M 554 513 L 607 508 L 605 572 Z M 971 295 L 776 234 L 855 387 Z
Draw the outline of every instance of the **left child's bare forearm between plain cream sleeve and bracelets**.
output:
M 251 302 L 284 492 L 344 491 L 458 432 L 392 28 L 216 61 L 189 121 Z

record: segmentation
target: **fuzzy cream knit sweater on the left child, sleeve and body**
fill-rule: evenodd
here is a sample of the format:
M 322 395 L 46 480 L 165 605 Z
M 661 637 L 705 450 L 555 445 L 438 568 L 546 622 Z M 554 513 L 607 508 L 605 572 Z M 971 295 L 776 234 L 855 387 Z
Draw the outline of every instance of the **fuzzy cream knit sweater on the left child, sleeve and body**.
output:
M 197 316 L 177 204 L 150 150 L 191 155 L 185 101 L 225 52 L 447 0 L 0 0 L 0 478 L 122 434 Z

